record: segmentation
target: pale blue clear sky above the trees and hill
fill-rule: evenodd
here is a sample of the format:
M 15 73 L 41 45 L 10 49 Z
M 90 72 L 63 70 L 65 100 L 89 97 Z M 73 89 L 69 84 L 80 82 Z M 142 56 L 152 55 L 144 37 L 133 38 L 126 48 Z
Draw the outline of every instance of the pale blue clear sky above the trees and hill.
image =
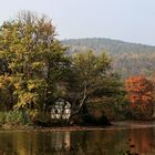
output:
M 21 10 L 50 17 L 59 39 L 110 38 L 155 45 L 155 0 L 0 0 L 0 24 Z

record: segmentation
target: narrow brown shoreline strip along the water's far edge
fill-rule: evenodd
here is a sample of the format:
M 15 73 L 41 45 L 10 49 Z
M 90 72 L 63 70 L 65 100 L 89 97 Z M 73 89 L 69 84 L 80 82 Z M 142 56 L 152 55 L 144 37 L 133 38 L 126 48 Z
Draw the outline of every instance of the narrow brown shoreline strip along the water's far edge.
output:
M 8 125 L 4 124 L 0 127 L 0 132 L 81 132 L 81 131 L 106 131 L 106 130 L 136 130 L 155 127 L 155 121 L 126 121 L 126 122 L 112 122 L 111 125 L 103 126 L 29 126 L 29 125 Z

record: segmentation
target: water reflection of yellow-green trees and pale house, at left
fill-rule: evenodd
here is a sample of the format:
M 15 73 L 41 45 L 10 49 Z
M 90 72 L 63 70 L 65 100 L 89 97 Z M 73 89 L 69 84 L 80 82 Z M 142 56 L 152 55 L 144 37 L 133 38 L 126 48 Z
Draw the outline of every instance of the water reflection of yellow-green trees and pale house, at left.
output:
M 41 155 L 68 152 L 71 147 L 70 132 L 0 133 L 0 154 Z

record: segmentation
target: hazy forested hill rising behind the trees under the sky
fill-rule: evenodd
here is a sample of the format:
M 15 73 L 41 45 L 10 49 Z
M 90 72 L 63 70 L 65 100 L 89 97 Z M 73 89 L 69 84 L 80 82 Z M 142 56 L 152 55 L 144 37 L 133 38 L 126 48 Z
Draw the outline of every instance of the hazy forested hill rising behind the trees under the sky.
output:
M 71 52 L 92 49 L 96 53 L 106 51 L 113 56 L 113 66 L 123 79 L 131 75 L 152 75 L 155 72 L 155 46 L 127 43 L 111 39 L 70 39 L 63 40 Z

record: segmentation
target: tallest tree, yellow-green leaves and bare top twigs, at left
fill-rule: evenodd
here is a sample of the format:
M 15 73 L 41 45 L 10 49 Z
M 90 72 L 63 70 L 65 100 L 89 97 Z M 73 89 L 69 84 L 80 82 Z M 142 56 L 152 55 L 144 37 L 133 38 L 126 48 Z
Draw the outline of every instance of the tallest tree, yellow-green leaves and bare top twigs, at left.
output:
M 4 22 L 0 28 L 0 79 L 11 79 L 14 100 L 10 104 L 48 110 L 69 63 L 65 51 L 46 17 L 20 12 L 13 21 Z M 4 90 L 3 82 L 0 85 Z

